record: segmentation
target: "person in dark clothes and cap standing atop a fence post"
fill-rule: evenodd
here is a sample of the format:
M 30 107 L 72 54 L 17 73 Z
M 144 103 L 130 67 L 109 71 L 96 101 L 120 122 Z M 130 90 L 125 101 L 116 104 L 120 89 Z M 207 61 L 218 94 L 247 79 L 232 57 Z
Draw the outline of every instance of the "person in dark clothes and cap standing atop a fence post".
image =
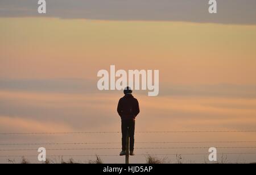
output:
M 127 132 L 130 136 L 130 155 L 134 156 L 135 118 L 139 114 L 139 102 L 131 95 L 133 90 L 130 87 L 126 87 L 123 93 L 125 96 L 119 99 L 117 107 L 117 112 L 122 119 L 122 152 L 120 156 L 126 155 Z

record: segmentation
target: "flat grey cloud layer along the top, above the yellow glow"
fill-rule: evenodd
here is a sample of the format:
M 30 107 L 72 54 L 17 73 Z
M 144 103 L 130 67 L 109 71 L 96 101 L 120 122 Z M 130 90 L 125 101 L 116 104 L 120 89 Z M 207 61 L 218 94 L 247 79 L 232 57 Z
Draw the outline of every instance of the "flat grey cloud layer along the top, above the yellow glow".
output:
M 2 0 L 1 17 L 42 16 L 38 1 Z M 53 0 L 47 1 L 47 14 L 56 18 L 101 20 L 170 20 L 199 23 L 256 24 L 254 0 L 217 1 L 218 13 L 209 14 L 208 0 Z

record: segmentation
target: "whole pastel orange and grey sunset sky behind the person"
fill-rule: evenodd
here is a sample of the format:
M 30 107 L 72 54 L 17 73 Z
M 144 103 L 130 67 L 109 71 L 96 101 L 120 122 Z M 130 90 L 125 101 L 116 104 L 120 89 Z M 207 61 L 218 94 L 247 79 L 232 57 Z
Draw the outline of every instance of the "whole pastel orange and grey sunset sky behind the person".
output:
M 204 1 L 151 0 L 148 7 L 143 6 L 146 1 L 108 0 L 106 6 L 95 2 L 72 1 L 71 4 L 56 0 L 49 2 L 48 14 L 41 16 L 36 14 L 34 1 L 0 2 L 1 133 L 119 131 L 116 108 L 122 91 L 97 89 L 98 70 L 109 70 L 110 65 L 125 70 L 159 70 L 158 97 L 134 91 L 141 106 L 137 131 L 255 130 L 256 14 L 252 8 L 256 7 L 255 1 L 232 1 L 236 3 L 230 6 L 228 1 L 220 2 L 216 17 L 208 14 L 208 3 Z M 155 7 L 156 2 L 160 5 Z M 168 6 L 175 9 L 171 2 L 180 9 L 168 11 Z M 122 11 L 125 6 L 133 13 Z M 121 141 L 120 134 L 107 136 L 110 141 Z M 137 134 L 135 147 L 234 146 L 142 145 L 136 141 L 256 141 L 255 138 L 255 133 Z M 81 143 L 108 139 L 97 134 L 0 135 L 0 144 L 58 141 Z M 90 145 L 80 146 L 90 148 Z M 119 148 L 120 144 L 95 147 Z M 1 148 L 10 147 L 1 145 Z M 113 155 L 118 151 L 49 151 L 49 154 Z M 136 151 L 138 154 L 192 152 L 208 153 L 208 150 Z M 255 149 L 221 149 L 220 152 L 255 152 Z M 37 152 L 0 152 L 0 155 L 37 155 Z M 255 155 L 228 158 L 231 162 L 255 161 Z M 123 161 L 119 157 L 102 159 L 106 163 Z M 185 159 L 204 161 L 203 156 Z M 131 161 L 144 163 L 144 157 Z M 6 162 L 5 158 L 1 157 L 0 162 Z

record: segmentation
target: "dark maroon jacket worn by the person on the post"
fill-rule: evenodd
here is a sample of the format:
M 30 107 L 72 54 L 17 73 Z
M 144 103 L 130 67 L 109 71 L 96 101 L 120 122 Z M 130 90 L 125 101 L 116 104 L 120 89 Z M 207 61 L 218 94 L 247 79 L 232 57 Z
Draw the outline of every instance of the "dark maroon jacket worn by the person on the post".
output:
M 135 119 L 139 114 L 139 102 L 131 94 L 119 99 L 117 112 L 122 119 Z

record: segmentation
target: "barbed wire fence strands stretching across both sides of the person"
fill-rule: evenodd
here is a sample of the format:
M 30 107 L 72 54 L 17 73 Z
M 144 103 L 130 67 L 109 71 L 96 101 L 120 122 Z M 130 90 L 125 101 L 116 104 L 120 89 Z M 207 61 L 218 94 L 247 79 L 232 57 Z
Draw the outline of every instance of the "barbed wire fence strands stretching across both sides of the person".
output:
M 185 133 L 185 134 L 190 134 L 190 133 L 256 133 L 256 130 L 241 130 L 241 131 L 139 131 L 136 132 L 137 134 L 177 134 L 177 133 Z M 3 132 L 0 133 L 0 136 L 11 136 L 11 135 L 17 135 L 17 136 L 22 136 L 22 135 L 92 135 L 92 134 L 99 134 L 99 135 L 105 135 L 105 134 L 121 134 L 121 132 L 114 132 L 114 131 L 105 131 L 105 132 Z M 15 148 L 15 149 L 2 149 L 1 146 L 27 146 L 27 145 L 115 145 L 115 144 L 121 144 L 120 142 L 72 142 L 72 143 L 61 143 L 61 142 L 53 142 L 53 143 L 2 143 L 0 141 L 0 158 L 8 158 L 8 157 L 37 157 L 37 155 L 20 155 L 20 151 L 38 151 L 38 149 L 23 149 L 23 148 Z M 222 146 L 222 147 L 216 147 L 217 149 L 225 150 L 222 152 L 218 152 L 218 155 L 256 155 L 256 140 L 254 141 L 243 141 L 243 140 L 233 140 L 233 141 L 138 141 L 136 144 L 231 144 L 229 146 Z M 254 144 L 251 146 L 234 146 L 233 144 Z M 82 150 L 110 150 L 110 149 L 120 149 L 117 147 L 104 147 L 104 148 L 98 148 L 98 147 L 92 147 L 92 148 L 49 148 L 47 151 L 82 151 Z M 151 156 L 175 156 L 175 155 L 209 155 L 208 149 L 209 147 L 191 147 L 191 146 L 186 146 L 186 147 L 137 147 L 135 149 L 143 149 L 143 150 L 156 150 L 156 149 L 161 149 L 161 150 L 166 150 L 165 153 L 156 153 L 156 154 L 150 154 Z M 207 149 L 207 152 L 177 152 L 177 153 L 170 153 L 169 150 L 174 150 L 174 149 L 182 149 L 182 150 L 201 150 L 201 149 Z M 242 149 L 243 151 L 241 152 L 227 152 L 227 149 Z M 253 151 L 251 151 L 253 150 Z M 16 153 L 19 153 L 16 154 Z M 3 153 L 5 153 L 3 155 Z M 8 153 L 8 155 L 6 154 Z M 15 153 L 15 155 L 13 155 Z M 139 153 L 135 156 L 147 156 L 148 153 Z M 69 154 L 69 155 L 47 155 L 47 157 L 93 157 L 96 155 L 84 155 L 84 154 Z M 119 156 L 118 154 L 99 154 L 97 156 L 101 157 L 115 157 Z

